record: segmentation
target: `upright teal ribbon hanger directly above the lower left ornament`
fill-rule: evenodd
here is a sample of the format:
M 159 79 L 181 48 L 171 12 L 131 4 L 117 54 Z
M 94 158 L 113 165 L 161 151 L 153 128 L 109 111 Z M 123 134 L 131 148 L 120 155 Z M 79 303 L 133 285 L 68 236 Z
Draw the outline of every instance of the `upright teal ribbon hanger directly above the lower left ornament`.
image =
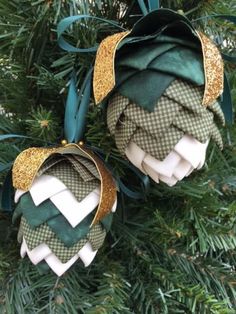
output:
M 93 68 L 88 71 L 79 95 L 76 87 L 76 75 L 75 73 L 72 74 L 64 119 L 64 134 L 69 143 L 76 143 L 83 136 L 86 114 L 91 97 L 92 71 Z

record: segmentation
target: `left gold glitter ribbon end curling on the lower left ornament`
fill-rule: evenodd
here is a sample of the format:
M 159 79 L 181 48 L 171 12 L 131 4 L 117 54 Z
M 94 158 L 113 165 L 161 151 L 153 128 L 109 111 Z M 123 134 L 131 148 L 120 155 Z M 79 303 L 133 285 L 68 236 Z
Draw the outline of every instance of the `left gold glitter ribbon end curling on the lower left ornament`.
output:
M 13 186 L 28 191 L 41 165 L 57 150 L 58 148 L 32 147 L 20 153 L 12 169 Z

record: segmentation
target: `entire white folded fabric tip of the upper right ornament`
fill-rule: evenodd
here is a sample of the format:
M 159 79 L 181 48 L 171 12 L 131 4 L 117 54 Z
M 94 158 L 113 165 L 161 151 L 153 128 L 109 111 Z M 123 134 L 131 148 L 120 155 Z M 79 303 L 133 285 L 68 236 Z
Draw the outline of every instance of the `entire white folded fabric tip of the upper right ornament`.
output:
M 189 176 L 194 169 L 200 169 L 204 165 L 208 142 L 202 144 L 193 137 L 184 135 L 163 161 L 144 152 L 132 141 L 125 154 L 133 165 L 155 182 L 162 181 L 173 186 Z

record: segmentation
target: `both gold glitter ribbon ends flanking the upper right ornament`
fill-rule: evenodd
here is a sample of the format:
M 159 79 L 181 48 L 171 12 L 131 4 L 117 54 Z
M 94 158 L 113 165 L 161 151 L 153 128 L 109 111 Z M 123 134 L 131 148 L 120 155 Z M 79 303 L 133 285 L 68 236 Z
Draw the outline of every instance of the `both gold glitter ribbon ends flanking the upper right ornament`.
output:
M 100 103 L 115 87 L 115 54 L 119 43 L 130 32 L 121 32 L 105 38 L 97 51 L 93 91 L 95 103 Z M 205 91 L 202 104 L 209 106 L 222 94 L 224 87 L 224 65 L 215 44 L 203 33 L 196 32 L 202 46 L 205 74 Z

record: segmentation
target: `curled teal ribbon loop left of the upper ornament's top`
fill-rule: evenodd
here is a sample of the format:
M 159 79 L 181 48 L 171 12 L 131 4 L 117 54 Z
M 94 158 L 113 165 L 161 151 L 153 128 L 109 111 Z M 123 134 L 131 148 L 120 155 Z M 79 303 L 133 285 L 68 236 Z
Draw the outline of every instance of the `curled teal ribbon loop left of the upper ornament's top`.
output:
M 96 52 L 98 45 L 94 46 L 94 47 L 89 47 L 89 48 L 77 48 L 74 47 L 73 45 L 69 44 L 62 36 L 62 34 L 64 33 L 64 31 L 74 22 L 78 22 L 80 20 L 97 20 L 100 22 L 105 22 L 107 24 L 113 25 L 121 30 L 126 30 L 125 28 L 123 28 L 122 26 L 120 26 L 118 23 L 116 23 L 115 21 L 112 20 L 106 20 L 100 17 L 96 17 L 96 16 L 91 16 L 91 15 L 74 15 L 74 16 L 69 16 L 64 18 L 63 20 L 61 20 L 58 25 L 57 25 L 57 36 L 58 36 L 58 45 L 69 52 L 85 52 L 85 53 L 89 53 L 89 52 Z M 87 27 L 86 25 L 84 25 L 84 27 Z

